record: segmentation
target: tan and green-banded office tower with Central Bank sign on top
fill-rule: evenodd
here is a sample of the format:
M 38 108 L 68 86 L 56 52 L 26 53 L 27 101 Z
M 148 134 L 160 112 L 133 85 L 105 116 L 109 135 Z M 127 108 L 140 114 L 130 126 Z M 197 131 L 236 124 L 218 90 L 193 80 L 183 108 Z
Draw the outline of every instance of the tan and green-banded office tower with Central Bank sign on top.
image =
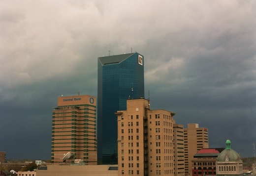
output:
M 78 95 L 59 97 L 52 112 L 53 163 L 62 162 L 71 152 L 86 165 L 97 164 L 96 97 Z

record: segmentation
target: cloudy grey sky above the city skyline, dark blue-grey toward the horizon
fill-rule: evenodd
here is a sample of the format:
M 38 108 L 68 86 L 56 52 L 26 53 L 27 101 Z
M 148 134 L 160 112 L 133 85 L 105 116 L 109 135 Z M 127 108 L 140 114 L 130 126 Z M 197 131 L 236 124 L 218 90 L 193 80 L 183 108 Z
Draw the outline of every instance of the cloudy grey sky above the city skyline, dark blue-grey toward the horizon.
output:
M 61 95 L 97 97 L 97 58 L 144 56 L 151 109 L 242 157 L 256 144 L 255 0 L 0 0 L 0 151 L 50 159 Z M 110 52 L 109 52 L 110 51 Z

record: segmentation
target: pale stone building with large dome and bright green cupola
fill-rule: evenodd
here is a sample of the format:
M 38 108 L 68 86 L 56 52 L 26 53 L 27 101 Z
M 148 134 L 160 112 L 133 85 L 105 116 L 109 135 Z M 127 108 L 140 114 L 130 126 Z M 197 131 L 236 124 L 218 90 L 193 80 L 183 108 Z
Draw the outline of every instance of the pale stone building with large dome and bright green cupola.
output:
M 217 175 L 243 175 L 243 161 L 231 149 L 231 141 L 226 140 L 226 149 L 217 158 Z

